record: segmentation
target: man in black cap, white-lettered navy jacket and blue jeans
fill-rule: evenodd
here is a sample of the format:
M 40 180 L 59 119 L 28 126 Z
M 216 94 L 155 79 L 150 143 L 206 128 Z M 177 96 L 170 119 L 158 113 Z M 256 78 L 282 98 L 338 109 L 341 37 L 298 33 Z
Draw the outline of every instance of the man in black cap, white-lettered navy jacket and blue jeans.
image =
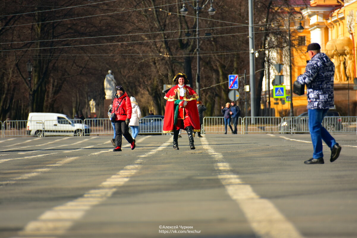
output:
M 305 164 L 323 164 L 322 140 L 331 148 L 330 162 L 335 161 L 340 155 L 341 146 L 322 126 L 323 118 L 328 109 L 334 107 L 333 103 L 333 75 L 335 65 L 330 58 L 320 52 L 320 45 L 311 43 L 307 46 L 310 61 L 307 63 L 305 73 L 297 77 L 297 81 L 306 84 L 307 111 L 309 118 L 309 131 L 313 145 L 313 156 Z

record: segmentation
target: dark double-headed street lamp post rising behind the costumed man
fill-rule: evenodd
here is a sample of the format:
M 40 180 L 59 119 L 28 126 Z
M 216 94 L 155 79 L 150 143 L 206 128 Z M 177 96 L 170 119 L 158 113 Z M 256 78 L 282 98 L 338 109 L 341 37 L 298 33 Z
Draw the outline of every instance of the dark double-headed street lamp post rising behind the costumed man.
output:
M 182 15 L 187 15 L 187 8 L 186 8 L 186 0 L 182 0 L 183 2 L 183 6 L 180 10 Z M 200 97 L 200 38 L 199 38 L 199 28 L 198 28 L 198 15 L 200 14 L 200 10 L 203 9 L 207 3 L 210 2 L 211 6 L 208 9 L 208 14 L 210 14 L 211 16 L 213 14 L 215 14 L 216 9 L 213 8 L 212 4 L 213 4 L 213 0 L 207 0 L 205 4 L 203 4 L 202 6 L 200 6 L 200 0 L 196 0 L 196 6 L 193 6 L 191 4 L 188 3 L 189 6 L 191 6 L 194 10 L 196 10 L 196 54 L 197 54 L 197 74 L 196 74 L 196 93 L 198 95 L 198 97 Z

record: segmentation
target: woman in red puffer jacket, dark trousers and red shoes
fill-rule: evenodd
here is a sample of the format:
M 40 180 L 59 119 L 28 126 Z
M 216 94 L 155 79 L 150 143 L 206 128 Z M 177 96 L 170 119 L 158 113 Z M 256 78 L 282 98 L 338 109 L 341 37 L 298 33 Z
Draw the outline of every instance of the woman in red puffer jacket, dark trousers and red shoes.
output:
M 131 150 L 135 148 L 135 140 L 129 133 L 129 122 L 131 118 L 131 102 L 122 86 L 116 86 L 118 97 L 114 98 L 112 112 L 115 113 L 115 148 L 113 151 L 121 151 L 121 135 L 130 143 Z

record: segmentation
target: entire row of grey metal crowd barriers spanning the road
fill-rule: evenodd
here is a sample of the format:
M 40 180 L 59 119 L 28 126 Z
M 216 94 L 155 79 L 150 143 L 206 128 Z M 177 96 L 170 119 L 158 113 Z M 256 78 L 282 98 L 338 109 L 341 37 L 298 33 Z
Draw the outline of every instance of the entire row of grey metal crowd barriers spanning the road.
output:
M 71 123 L 72 122 L 72 123 Z M 47 121 L 0 121 L 1 137 L 5 136 L 50 136 L 50 135 L 113 135 L 109 118 Z M 161 117 L 141 118 L 139 134 L 161 134 Z M 332 133 L 357 133 L 357 117 L 325 117 L 322 125 Z M 29 130 L 27 130 L 29 126 Z M 130 130 L 130 129 L 129 129 Z M 223 117 L 204 117 L 202 133 L 225 132 Z M 308 117 L 239 117 L 237 133 L 309 133 Z

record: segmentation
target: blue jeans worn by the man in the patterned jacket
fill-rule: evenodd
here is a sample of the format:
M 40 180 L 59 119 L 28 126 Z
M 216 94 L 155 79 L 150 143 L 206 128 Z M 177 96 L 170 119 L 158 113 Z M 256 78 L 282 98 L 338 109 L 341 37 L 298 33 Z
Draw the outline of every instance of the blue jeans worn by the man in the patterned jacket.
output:
M 325 127 L 322 126 L 323 118 L 325 117 L 328 109 L 308 109 L 309 116 L 309 131 L 313 146 L 312 158 L 322 158 L 322 140 L 326 145 L 332 148 L 336 144 L 336 140 L 328 133 Z

